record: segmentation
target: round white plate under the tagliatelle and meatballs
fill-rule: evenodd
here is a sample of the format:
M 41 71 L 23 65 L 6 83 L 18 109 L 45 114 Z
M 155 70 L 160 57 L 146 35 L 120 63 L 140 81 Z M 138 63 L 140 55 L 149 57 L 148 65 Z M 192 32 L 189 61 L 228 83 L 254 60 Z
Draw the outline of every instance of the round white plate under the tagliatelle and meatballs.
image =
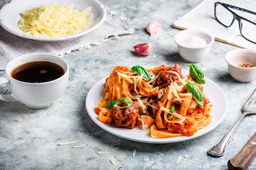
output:
M 182 70 L 183 75 L 188 75 L 188 70 Z M 174 143 L 174 142 L 182 142 L 189 139 L 193 139 L 195 137 L 199 137 L 213 130 L 220 122 L 224 119 L 227 114 L 228 102 L 227 97 L 222 91 L 222 89 L 209 78 L 204 78 L 205 84 L 204 94 L 210 100 L 210 104 L 212 105 L 211 116 L 213 117 L 213 121 L 203 129 L 198 130 L 197 133 L 193 136 L 180 136 L 180 137 L 169 137 L 169 138 L 155 138 L 150 136 L 150 131 L 139 133 L 141 130 L 139 127 L 135 129 L 121 129 L 117 128 L 114 124 L 104 124 L 98 120 L 98 115 L 94 111 L 95 102 L 102 99 L 102 92 L 104 88 L 104 84 L 106 82 L 106 78 L 102 78 L 98 81 L 88 92 L 85 106 L 89 116 L 92 120 L 99 125 L 102 129 L 112 133 L 113 135 L 117 135 L 119 137 L 129 139 L 137 142 L 144 143 L 154 143 L 154 144 L 164 144 L 164 143 Z

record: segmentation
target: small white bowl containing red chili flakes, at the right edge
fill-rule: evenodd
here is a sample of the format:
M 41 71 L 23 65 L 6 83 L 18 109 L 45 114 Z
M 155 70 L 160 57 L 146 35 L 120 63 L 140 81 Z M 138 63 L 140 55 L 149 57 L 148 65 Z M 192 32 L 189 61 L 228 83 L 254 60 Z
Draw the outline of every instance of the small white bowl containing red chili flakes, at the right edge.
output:
M 249 83 L 256 78 L 256 51 L 250 49 L 237 49 L 227 52 L 225 55 L 229 74 L 238 82 Z M 238 65 L 254 65 L 251 68 L 243 68 Z

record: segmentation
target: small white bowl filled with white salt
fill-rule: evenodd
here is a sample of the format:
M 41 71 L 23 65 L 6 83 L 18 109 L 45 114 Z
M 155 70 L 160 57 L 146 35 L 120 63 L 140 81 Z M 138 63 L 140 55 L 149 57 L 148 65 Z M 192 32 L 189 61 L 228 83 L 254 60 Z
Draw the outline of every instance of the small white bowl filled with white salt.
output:
M 197 30 L 183 30 L 174 37 L 180 56 L 190 63 L 198 63 L 209 54 L 214 37 Z

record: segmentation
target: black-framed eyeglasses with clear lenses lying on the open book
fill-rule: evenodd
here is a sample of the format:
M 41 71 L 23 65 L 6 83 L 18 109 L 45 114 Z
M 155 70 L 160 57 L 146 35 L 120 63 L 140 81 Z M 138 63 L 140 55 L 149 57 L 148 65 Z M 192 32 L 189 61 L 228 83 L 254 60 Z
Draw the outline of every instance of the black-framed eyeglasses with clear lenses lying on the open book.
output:
M 237 20 L 238 24 L 239 24 L 239 29 L 240 29 L 241 35 L 245 39 L 247 39 L 253 43 L 256 43 L 256 23 L 237 15 L 236 13 L 231 11 L 229 8 L 244 11 L 244 12 L 251 13 L 254 15 L 256 15 L 256 13 L 253 11 L 249 11 L 247 9 L 234 7 L 229 4 L 215 2 L 214 13 L 215 13 L 215 17 L 218 20 L 218 22 L 220 22 L 220 24 L 222 24 L 223 26 L 230 27 L 234 23 L 234 21 Z

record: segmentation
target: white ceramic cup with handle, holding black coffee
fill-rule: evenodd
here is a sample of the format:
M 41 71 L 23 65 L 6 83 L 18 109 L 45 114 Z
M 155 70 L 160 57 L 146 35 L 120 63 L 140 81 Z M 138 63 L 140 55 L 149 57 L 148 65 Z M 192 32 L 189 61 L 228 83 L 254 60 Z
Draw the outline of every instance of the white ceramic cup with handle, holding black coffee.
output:
M 56 63 L 65 70 L 65 73 L 55 80 L 43 83 L 27 83 L 12 78 L 11 72 L 13 69 L 31 61 L 49 61 Z M 69 65 L 61 57 L 46 53 L 30 53 L 19 56 L 7 64 L 5 76 L 0 77 L 0 86 L 7 84 L 11 90 L 11 94 L 0 94 L 0 100 L 19 101 L 27 107 L 34 109 L 48 107 L 65 92 L 68 76 Z

